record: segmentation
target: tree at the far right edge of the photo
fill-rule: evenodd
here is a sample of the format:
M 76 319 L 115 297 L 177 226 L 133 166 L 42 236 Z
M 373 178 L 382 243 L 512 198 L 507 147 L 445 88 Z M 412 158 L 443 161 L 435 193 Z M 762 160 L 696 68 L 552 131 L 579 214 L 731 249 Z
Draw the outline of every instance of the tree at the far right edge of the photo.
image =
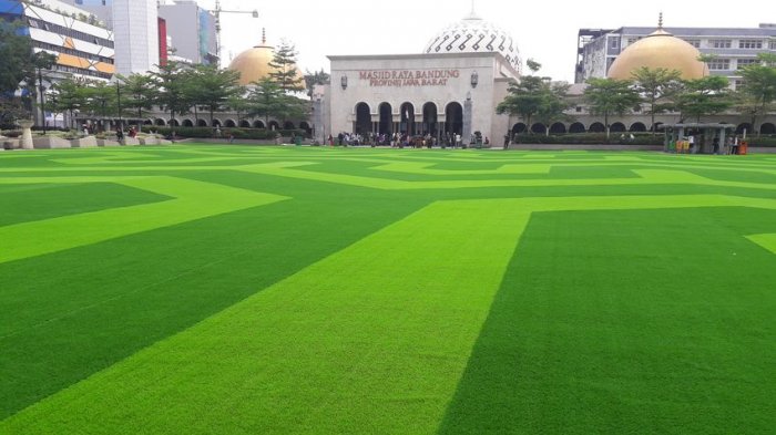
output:
M 776 55 L 760 53 L 762 63 L 741 70 L 744 86 L 737 92 L 738 110 L 748 114 L 752 127 L 759 134 L 757 117 L 770 110 L 776 100 Z

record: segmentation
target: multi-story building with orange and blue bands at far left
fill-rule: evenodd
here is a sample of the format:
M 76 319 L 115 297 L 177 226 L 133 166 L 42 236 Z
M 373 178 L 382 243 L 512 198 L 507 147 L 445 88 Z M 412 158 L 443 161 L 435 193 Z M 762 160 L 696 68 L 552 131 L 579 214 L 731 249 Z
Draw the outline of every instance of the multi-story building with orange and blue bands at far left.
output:
M 0 18 L 22 20 L 35 52 L 57 56 L 51 80 L 76 76 L 109 80 L 113 64 L 113 33 L 95 15 L 58 0 L 0 0 Z

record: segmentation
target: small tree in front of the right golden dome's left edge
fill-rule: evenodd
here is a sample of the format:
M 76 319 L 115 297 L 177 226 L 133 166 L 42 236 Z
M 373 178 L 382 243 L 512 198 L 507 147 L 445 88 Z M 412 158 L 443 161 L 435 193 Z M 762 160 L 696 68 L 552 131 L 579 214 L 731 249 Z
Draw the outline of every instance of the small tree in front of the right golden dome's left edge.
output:
M 639 104 L 641 97 L 633 89 L 630 80 L 589 79 L 584 90 L 584 100 L 590 106 L 590 112 L 603 115 L 606 126 L 606 141 L 610 136 L 609 117 L 611 115 L 624 115 Z

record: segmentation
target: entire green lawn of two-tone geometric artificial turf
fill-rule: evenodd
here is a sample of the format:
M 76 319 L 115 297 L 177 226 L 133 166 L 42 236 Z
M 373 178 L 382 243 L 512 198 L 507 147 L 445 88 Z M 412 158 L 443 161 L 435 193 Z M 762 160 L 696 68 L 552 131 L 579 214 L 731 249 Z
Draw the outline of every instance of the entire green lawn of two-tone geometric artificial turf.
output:
M 0 434 L 763 434 L 776 156 L 0 153 Z

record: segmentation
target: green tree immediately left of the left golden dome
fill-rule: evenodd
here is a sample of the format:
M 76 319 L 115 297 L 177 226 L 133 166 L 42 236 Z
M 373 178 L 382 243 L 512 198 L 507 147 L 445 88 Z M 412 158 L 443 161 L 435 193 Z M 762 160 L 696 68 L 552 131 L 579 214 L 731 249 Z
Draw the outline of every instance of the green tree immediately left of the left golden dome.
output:
M 192 93 L 193 103 L 208 110 L 211 125 L 213 125 L 216 111 L 225 108 L 229 99 L 245 93 L 245 89 L 239 85 L 239 73 L 233 70 L 218 70 L 214 65 L 197 65 L 190 76 L 192 82 L 190 82 L 188 89 L 195 90 Z

